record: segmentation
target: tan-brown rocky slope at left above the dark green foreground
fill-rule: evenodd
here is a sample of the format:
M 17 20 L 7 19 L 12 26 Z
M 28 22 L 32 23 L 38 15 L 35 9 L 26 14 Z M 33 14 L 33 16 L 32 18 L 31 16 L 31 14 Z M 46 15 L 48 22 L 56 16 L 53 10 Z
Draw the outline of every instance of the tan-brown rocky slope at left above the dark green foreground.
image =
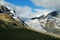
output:
M 21 19 L 14 19 L 11 15 L 0 13 L 0 27 L 1 28 L 23 28 L 25 25 Z

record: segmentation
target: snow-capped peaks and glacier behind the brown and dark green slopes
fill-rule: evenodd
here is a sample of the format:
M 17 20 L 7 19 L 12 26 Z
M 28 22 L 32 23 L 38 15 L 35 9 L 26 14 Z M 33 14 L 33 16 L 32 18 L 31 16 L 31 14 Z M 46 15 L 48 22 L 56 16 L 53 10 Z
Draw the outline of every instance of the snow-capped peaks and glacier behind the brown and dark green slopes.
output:
M 10 4 L 4 1 L 0 1 L 0 6 L 2 5 L 3 8 L 6 8 L 9 12 L 9 14 L 14 19 L 21 19 L 24 23 L 28 25 L 28 28 L 34 29 L 36 31 L 51 31 L 51 32 L 57 32 L 60 31 L 60 19 L 58 11 L 49 11 L 47 13 L 41 13 L 41 14 L 34 14 L 32 17 L 22 17 L 21 15 L 17 15 L 18 11 L 13 6 L 10 6 Z M 4 11 L 4 13 L 8 13 L 7 11 L 0 10 L 0 12 Z M 31 14 L 32 15 L 32 14 Z M 24 16 L 24 15 L 23 15 Z M 55 24 L 54 24 L 55 23 Z M 59 24 L 59 25 L 57 25 Z

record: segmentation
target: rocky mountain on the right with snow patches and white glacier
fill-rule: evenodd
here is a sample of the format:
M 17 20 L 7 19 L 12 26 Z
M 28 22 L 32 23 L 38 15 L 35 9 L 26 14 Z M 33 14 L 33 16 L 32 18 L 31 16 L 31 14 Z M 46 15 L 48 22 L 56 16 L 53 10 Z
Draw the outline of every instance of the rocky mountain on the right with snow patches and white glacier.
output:
M 60 19 L 58 11 L 52 11 L 47 15 L 43 14 L 39 17 L 30 18 L 30 20 L 25 21 L 26 24 L 37 31 L 51 32 L 56 34 L 60 34 L 59 22 Z

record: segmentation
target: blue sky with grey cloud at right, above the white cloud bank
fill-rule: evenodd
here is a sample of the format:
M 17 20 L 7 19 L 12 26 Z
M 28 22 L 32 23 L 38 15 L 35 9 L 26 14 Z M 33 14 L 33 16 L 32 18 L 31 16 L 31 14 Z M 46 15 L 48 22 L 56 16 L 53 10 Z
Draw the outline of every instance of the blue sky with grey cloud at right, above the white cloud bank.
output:
M 29 6 L 31 8 L 60 9 L 60 0 L 5 0 L 14 5 Z

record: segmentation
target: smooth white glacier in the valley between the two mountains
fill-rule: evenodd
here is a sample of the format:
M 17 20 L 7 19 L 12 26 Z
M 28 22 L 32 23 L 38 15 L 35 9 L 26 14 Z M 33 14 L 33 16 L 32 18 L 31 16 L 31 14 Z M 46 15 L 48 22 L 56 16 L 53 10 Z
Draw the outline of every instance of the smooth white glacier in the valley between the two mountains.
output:
M 46 30 L 40 25 L 38 19 L 28 20 L 25 23 L 28 24 L 30 28 L 35 29 L 36 31 L 46 32 Z

